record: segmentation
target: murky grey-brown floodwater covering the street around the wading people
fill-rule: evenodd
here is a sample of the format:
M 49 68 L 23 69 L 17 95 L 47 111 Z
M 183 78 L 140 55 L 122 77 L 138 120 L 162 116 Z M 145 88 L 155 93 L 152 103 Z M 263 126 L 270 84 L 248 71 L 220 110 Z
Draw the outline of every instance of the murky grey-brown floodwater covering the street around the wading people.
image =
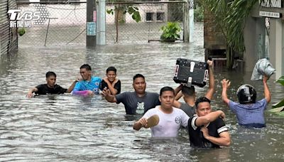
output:
M 149 129 L 134 131 L 139 119 L 126 116 L 123 104 L 106 102 L 100 95 L 75 97 L 48 95 L 26 98 L 31 87 L 45 83 L 45 72 L 58 75 L 57 83 L 68 87 L 79 75 L 83 63 L 92 65 L 93 74 L 104 77 L 115 66 L 122 92 L 133 90 L 132 77 L 146 76 L 149 92 L 178 85 L 173 82 L 177 58 L 204 60 L 202 24 L 195 26 L 195 42 L 148 43 L 85 47 L 19 47 L 2 55 L 0 64 L 0 161 L 283 161 L 284 119 L 266 112 L 267 127 L 244 129 L 221 101 L 221 80 L 229 78 L 229 97 L 236 100 L 239 85 L 249 83 L 263 97 L 261 82 L 250 81 L 251 72 L 216 68 L 216 93 L 212 107 L 226 113 L 231 146 L 220 149 L 191 148 L 181 130 L 177 139 L 151 139 Z M 283 98 L 284 88 L 268 81 L 272 103 Z M 202 95 L 207 86 L 197 88 Z M 271 109 L 271 104 L 268 104 Z

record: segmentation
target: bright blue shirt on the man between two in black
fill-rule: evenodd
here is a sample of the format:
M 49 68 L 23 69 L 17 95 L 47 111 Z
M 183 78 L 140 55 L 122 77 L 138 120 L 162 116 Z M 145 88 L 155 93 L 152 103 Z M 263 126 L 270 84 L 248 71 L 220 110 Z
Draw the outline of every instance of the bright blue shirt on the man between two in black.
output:
M 102 82 L 99 77 L 91 77 L 91 80 L 81 80 L 76 83 L 72 94 L 73 95 L 82 95 L 80 91 L 87 92 L 87 90 L 92 90 L 94 94 L 99 94 L 99 85 Z

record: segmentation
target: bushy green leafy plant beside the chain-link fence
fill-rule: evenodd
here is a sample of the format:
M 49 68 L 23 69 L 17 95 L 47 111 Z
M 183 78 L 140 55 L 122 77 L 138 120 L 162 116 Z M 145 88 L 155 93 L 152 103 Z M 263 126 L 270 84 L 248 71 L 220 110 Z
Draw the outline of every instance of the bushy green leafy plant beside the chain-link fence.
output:
M 174 42 L 180 39 L 180 31 L 182 31 L 182 28 L 180 28 L 180 23 L 178 22 L 168 22 L 167 25 L 162 26 L 160 30 L 163 31 L 160 40 Z

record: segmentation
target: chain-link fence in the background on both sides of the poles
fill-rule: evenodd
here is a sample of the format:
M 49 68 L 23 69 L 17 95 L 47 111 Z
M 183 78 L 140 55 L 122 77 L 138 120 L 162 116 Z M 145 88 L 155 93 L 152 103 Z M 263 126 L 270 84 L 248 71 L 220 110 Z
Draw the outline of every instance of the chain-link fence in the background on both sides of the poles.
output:
M 109 3 L 106 10 L 115 6 L 135 6 L 141 16 L 138 23 L 129 13 L 117 15 L 106 13 L 106 40 L 111 43 L 147 43 L 149 40 L 159 40 L 161 26 L 167 22 L 178 21 L 183 28 L 184 1 L 168 2 L 132 2 Z M 40 4 L 19 3 L 18 9 L 23 11 L 45 11 L 45 18 L 40 24 L 32 23 L 26 27 L 26 33 L 18 38 L 19 45 L 69 45 L 86 43 L 86 3 L 71 4 Z M 40 10 L 39 10 L 40 9 Z M 116 18 L 119 23 L 116 30 Z M 116 32 L 118 31 L 118 32 Z M 182 39 L 182 31 L 180 32 Z

